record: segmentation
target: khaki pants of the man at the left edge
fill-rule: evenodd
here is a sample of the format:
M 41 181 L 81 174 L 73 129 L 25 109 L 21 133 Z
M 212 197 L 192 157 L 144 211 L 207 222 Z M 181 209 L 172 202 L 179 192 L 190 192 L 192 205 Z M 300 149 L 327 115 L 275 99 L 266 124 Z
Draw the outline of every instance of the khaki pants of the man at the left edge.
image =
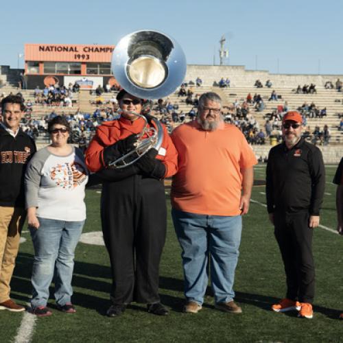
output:
M 10 299 L 10 281 L 25 217 L 22 208 L 0 206 L 0 303 Z

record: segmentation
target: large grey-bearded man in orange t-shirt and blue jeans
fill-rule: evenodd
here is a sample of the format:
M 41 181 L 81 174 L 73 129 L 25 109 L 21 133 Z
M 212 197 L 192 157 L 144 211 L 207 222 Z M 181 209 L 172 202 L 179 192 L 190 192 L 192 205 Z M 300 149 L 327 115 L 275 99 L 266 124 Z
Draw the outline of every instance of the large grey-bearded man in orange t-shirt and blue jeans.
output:
M 241 131 L 224 123 L 221 107 L 216 93 L 204 93 L 197 120 L 171 134 L 178 150 L 171 215 L 182 248 L 188 313 L 202 308 L 209 261 L 215 307 L 241 313 L 233 301 L 233 282 L 241 215 L 248 213 L 257 160 Z

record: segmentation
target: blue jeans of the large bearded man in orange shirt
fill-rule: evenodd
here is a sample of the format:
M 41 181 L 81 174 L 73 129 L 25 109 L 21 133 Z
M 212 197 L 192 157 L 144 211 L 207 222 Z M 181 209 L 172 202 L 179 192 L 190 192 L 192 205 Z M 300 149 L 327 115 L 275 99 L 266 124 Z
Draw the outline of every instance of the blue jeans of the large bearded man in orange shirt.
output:
M 209 281 L 215 303 L 233 300 L 233 282 L 241 241 L 241 216 L 200 215 L 172 209 L 174 227 L 182 248 L 187 300 L 202 305 Z

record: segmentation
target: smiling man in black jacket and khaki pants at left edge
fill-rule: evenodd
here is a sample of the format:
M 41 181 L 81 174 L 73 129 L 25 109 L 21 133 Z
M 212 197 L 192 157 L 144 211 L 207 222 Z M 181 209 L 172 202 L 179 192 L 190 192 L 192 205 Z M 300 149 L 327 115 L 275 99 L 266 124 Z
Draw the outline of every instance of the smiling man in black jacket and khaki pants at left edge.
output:
M 36 152 L 34 141 L 20 128 L 23 99 L 9 95 L 1 101 L 0 121 L 0 309 L 20 312 L 25 307 L 10 298 L 21 228 L 25 222 L 24 174 Z

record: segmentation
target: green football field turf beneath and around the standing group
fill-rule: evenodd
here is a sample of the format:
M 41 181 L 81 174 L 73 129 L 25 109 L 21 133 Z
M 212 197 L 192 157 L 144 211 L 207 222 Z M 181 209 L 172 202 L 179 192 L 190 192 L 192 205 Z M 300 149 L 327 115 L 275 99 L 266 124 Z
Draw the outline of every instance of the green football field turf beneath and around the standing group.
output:
M 145 305 L 133 303 L 123 316 L 106 317 L 110 305 L 110 268 L 104 246 L 79 243 L 75 252 L 73 303 L 76 314 L 56 310 L 36 318 L 28 313 L 0 311 L 0 342 L 343 342 L 343 237 L 335 231 L 335 168 L 327 166 L 327 185 L 321 213 L 322 227 L 314 235 L 316 298 L 314 319 L 300 319 L 296 312 L 275 313 L 270 305 L 285 295 L 283 264 L 265 209 L 265 166 L 255 167 L 250 212 L 244 217 L 241 249 L 235 279 L 235 300 L 243 314 L 226 314 L 214 308 L 211 287 L 202 311 L 183 314 L 180 248 L 170 216 L 161 261 L 161 300 L 169 316 L 147 314 Z M 88 219 L 84 233 L 99 231 L 97 190 L 88 190 Z M 169 206 L 169 197 L 167 196 Z M 331 230 L 330 230 L 331 229 Z M 33 247 L 27 231 L 12 279 L 12 298 L 29 301 Z M 54 287 L 51 287 L 53 295 Z

